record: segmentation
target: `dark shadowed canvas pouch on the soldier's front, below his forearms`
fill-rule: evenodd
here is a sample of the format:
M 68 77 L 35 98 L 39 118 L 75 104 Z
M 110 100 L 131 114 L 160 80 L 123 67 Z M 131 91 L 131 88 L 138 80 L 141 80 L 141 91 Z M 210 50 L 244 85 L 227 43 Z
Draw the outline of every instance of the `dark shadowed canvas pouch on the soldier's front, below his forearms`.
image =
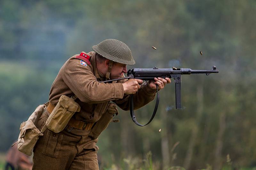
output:
M 98 138 L 100 136 L 100 133 L 108 127 L 108 124 L 111 122 L 114 114 L 116 115 L 118 114 L 118 110 L 116 109 L 116 104 L 109 103 L 109 106 L 106 112 L 100 117 L 100 119 L 92 127 L 92 131 L 89 134 L 89 136 L 92 139 Z M 118 122 L 118 121 L 114 121 L 114 122 Z

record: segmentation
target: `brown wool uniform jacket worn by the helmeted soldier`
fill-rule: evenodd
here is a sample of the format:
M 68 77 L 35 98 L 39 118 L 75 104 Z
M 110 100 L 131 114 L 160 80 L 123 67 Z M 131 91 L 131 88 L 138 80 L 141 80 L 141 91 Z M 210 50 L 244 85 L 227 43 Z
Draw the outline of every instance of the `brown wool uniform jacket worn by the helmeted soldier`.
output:
M 76 58 L 79 57 L 79 54 L 71 57 L 61 67 L 51 87 L 49 100 L 54 106 L 58 103 L 61 95 L 68 97 L 76 95 L 78 97 L 76 102 L 81 106 L 81 110 L 75 113 L 76 120 L 97 122 L 107 110 L 110 101 L 116 103 L 123 110 L 130 108 L 130 96 L 124 95 L 124 88 L 121 84 L 126 80 L 116 83 L 98 82 L 105 79 L 97 71 L 95 54 L 95 52 L 87 53 L 91 56 L 90 62 Z M 81 60 L 86 62 L 87 66 L 82 65 Z M 142 86 L 133 95 L 134 110 L 154 100 L 155 95 L 156 90 L 149 87 L 148 83 Z

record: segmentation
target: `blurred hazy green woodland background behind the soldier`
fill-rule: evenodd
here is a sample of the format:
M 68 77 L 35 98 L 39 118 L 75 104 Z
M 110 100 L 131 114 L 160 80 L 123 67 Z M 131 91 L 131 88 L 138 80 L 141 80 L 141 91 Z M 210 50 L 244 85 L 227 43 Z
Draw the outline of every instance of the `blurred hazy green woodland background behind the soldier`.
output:
M 154 169 L 256 167 L 255 12 L 254 0 L 0 0 L 0 152 L 48 101 L 68 58 L 118 39 L 136 61 L 128 69 L 215 65 L 220 72 L 182 76 L 182 110 L 174 109 L 174 83 L 166 86 L 148 126 L 119 109 L 120 123 L 97 144 L 102 169 L 147 169 L 151 154 Z M 139 123 L 154 106 L 136 110 Z

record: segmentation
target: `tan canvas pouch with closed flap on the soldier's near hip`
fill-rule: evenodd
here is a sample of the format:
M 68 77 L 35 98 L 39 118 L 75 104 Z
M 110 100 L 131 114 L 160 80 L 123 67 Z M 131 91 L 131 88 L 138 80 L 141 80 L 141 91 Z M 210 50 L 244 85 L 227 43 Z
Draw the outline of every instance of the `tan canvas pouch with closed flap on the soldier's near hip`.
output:
M 76 96 L 72 96 L 71 98 L 65 95 L 60 96 L 59 102 L 52 112 L 50 112 L 51 114 L 46 120 L 45 124 L 48 129 L 54 133 L 59 133 L 65 129 L 75 112 L 80 111 L 79 104 L 75 102 L 76 98 Z

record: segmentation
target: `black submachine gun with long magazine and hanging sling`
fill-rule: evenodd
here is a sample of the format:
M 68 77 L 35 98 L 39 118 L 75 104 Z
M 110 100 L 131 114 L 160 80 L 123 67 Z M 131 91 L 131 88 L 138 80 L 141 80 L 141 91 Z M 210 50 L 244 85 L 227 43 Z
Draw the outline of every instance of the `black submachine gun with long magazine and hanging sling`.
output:
M 117 80 L 123 80 L 123 79 L 140 79 L 140 80 L 154 80 L 156 77 L 161 78 L 173 78 L 175 83 L 175 99 L 176 99 L 176 109 L 181 109 L 181 75 L 182 74 L 206 74 L 209 75 L 211 73 L 219 73 L 219 70 L 216 70 L 216 66 L 212 67 L 212 70 L 192 70 L 190 68 L 132 68 L 131 70 L 128 70 L 127 77 L 119 78 L 119 79 L 113 79 L 113 80 L 107 80 L 107 81 L 100 81 L 100 82 L 112 82 Z M 154 112 L 152 114 L 152 117 L 148 121 L 148 125 L 153 118 L 156 115 L 156 110 L 159 103 L 159 94 L 158 94 L 158 85 L 156 85 L 156 105 Z M 136 117 L 134 115 L 133 111 L 133 95 L 130 97 L 130 114 L 132 117 L 132 121 L 137 124 L 138 126 L 145 126 L 142 124 L 139 124 L 136 120 Z

